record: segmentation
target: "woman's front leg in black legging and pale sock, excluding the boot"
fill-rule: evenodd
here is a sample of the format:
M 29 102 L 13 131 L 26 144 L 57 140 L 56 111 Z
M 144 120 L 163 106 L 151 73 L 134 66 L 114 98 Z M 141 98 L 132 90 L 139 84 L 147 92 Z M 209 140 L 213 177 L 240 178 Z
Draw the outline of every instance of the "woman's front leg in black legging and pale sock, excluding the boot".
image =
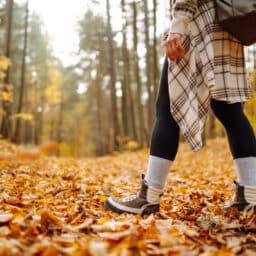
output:
M 156 101 L 156 119 L 151 135 L 150 156 L 145 180 L 163 189 L 179 144 L 179 126 L 170 111 L 168 61 L 165 59 Z

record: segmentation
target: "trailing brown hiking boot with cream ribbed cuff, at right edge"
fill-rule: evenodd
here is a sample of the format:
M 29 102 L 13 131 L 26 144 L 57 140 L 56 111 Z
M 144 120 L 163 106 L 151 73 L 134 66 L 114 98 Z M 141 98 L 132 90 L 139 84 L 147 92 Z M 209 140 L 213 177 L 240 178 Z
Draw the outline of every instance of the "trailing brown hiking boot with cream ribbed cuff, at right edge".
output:
M 223 211 L 236 208 L 238 211 L 243 211 L 246 207 L 251 205 L 254 207 L 256 213 L 256 187 L 255 186 L 243 186 L 234 181 L 235 184 L 235 198 L 233 202 L 223 208 Z

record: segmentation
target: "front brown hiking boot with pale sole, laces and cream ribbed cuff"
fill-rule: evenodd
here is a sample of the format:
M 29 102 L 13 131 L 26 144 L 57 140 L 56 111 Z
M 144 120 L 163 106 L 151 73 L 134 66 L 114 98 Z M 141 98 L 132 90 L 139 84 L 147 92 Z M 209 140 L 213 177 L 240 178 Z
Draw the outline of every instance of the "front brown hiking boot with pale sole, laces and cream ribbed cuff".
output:
M 159 211 L 162 192 L 162 189 L 148 186 L 144 175 L 142 175 L 140 192 L 122 199 L 111 196 L 105 201 L 104 205 L 108 210 L 117 213 L 150 215 Z

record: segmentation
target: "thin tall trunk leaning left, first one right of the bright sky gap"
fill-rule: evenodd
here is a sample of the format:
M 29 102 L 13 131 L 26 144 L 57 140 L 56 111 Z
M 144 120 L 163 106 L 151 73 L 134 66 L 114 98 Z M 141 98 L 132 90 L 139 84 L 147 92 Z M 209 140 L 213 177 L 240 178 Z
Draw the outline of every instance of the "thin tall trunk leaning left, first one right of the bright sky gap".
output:
M 113 150 L 119 149 L 118 136 L 120 134 L 117 116 L 117 99 L 116 99 L 116 73 L 115 73 L 115 56 L 113 47 L 113 33 L 111 27 L 110 17 L 110 5 L 109 0 L 106 0 L 107 4 L 107 37 L 108 37 L 108 49 L 109 49 L 109 75 L 110 75 L 110 94 L 111 94 L 111 120 L 112 120 L 112 140 Z

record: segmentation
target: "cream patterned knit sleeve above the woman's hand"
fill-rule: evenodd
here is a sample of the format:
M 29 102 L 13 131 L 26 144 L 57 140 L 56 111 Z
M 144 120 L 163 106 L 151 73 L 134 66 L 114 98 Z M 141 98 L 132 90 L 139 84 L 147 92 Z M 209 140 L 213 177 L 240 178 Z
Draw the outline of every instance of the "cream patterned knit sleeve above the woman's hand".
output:
M 172 5 L 169 33 L 184 34 L 187 25 L 197 12 L 197 0 L 176 0 Z

